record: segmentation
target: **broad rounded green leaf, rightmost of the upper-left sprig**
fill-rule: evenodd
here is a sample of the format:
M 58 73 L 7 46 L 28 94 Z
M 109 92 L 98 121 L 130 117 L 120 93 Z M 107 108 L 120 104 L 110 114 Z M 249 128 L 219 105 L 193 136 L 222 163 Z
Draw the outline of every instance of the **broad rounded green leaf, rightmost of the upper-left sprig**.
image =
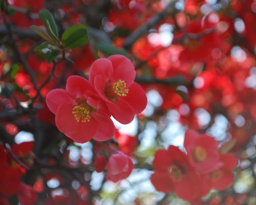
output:
M 75 25 L 68 28 L 62 35 L 62 44 L 65 49 L 73 49 L 84 46 L 88 42 L 87 27 Z

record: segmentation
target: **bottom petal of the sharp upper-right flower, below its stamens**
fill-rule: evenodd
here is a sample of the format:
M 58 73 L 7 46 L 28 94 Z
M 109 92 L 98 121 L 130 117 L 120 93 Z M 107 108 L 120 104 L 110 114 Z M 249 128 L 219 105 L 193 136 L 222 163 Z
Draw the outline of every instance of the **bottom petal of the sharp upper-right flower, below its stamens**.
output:
M 128 124 L 134 118 L 134 109 L 122 98 L 119 98 L 115 104 L 108 103 L 108 107 L 113 117 L 122 124 Z

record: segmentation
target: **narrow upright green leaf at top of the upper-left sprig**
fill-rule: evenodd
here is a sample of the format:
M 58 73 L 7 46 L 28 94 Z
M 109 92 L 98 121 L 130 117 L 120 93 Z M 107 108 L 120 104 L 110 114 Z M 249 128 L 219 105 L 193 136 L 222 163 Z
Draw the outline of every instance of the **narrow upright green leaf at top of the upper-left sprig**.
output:
M 55 23 L 55 20 L 51 14 L 50 11 L 47 9 L 42 9 L 39 12 L 39 17 L 41 18 L 46 30 L 50 35 L 53 35 L 52 37 L 57 38 L 58 37 L 58 29 L 57 25 Z

